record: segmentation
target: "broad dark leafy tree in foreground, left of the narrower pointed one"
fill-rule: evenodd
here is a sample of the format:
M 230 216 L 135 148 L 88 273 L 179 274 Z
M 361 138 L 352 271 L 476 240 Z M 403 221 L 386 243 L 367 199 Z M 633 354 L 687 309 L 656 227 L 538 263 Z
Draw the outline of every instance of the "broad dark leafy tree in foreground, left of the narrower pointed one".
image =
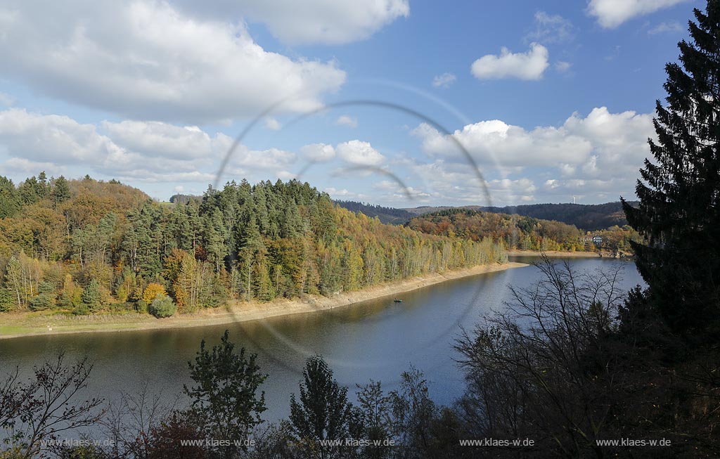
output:
M 265 392 L 258 397 L 258 387 L 267 378 L 260 373 L 257 355 L 246 358 L 244 347 L 235 353 L 228 330 L 220 345 L 207 350 L 205 340 L 194 362 L 189 362 L 192 388 L 185 386 L 185 394 L 192 399 L 191 410 L 202 422 L 207 438 L 229 442 L 212 447 L 220 458 L 233 458 L 248 449 L 248 435 L 260 424 L 260 414 L 266 410 Z

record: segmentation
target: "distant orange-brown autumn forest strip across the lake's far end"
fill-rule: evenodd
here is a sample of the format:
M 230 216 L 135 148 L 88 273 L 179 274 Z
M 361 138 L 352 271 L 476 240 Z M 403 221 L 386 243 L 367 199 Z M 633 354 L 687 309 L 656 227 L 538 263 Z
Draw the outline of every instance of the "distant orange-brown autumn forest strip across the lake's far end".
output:
M 430 235 L 475 241 L 490 237 L 508 250 L 602 250 L 618 254 L 631 252 L 630 242 L 641 240 L 639 234 L 627 225 L 591 233 L 554 220 L 459 208 L 420 215 L 411 219 L 408 227 Z M 600 240 L 593 242 L 593 237 L 598 236 Z

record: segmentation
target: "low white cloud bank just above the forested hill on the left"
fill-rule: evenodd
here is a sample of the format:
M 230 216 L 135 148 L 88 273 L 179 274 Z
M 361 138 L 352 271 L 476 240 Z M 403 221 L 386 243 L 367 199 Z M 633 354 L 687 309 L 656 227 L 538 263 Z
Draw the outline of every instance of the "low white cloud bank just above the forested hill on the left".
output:
M 24 109 L 0 111 L 0 152 L 6 168 L 58 171 L 76 168 L 132 181 L 202 181 L 215 177 L 218 160 L 233 144 L 222 133 L 162 122 L 82 124 Z M 230 166 L 250 171 L 286 171 L 292 152 L 238 145 Z M 263 177 L 266 178 L 266 177 Z

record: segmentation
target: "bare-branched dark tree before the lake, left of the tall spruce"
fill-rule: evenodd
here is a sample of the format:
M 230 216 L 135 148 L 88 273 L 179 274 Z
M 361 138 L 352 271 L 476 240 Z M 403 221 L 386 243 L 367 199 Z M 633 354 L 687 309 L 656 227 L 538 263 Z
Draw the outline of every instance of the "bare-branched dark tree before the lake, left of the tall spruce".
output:
M 621 363 L 631 356 L 609 339 L 624 294 L 619 271 L 576 273 L 547 258 L 536 266 L 541 281 L 513 288 L 505 312 L 457 342 L 469 388 L 459 416 L 469 437 L 528 437 L 539 451 L 603 457 L 610 451 L 595 440 L 620 437 L 624 421 L 628 434 L 637 422 L 624 405 L 636 381 Z

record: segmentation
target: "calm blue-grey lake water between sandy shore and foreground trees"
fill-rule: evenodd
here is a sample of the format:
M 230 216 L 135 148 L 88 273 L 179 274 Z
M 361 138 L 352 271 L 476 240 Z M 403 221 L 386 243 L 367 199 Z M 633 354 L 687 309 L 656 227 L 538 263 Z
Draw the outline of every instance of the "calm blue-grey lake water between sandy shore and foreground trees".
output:
M 528 260 L 532 259 L 513 259 Z M 628 261 L 569 262 L 576 270 L 622 265 L 622 288 L 642 283 Z M 338 381 L 348 386 L 352 401 L 356 383 L 373 379 L 392 390 L 412 364 L 426 374 L 431 397 L 449 404 L 464 388 L 452 360 L 460 325 L 471 327 L 492 309 L 503 308 L 508 285 L 528 286 L 538 278 L 538 270 L 529 266 L 421 288 L 400 295 L 402 303 L 391 297 L 326 312 L 210 327 L 0 340 L 0 374 L 16 365 L 28 370 L 64 349 L 71 359 L 89 355 L 94 362 L 87 395 L 114 400 L 122 391 L 137 392 L 147 383 L 150 392 L 161 392 L 169 400 L 190 382 L 187 361 L 200 340 L 215 344 L 227 328 L 238 346 L 258 353 L 258 363 L 269 374 L 263 385 L 268 406 L 264 419 L 287 417 L 289 396 L 297 393 L 305 358 L 314 353 L 328 360 Z

